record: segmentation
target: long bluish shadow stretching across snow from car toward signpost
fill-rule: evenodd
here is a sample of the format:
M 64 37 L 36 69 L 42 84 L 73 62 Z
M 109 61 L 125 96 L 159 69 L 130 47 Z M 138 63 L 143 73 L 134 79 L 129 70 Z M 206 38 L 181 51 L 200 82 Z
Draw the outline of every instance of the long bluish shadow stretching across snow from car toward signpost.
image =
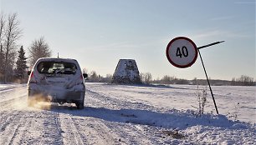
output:
M 44 107 L 42 107 L 44 109 Z M 181 112 L 172 109 L 169 112 L 152 112 L 139 109 L 120 109 L 114 110 L 104 107 L 84 107 L 83 110 L 77 110 L 74 106 L 59 106 L 52 104 L 48 109 L 52 112 L 59 112 L 72 115 L 74 117 L 94 117 L 108 122 L 121 122 L 154 126 L 166 129 L 186 129 L 192 126 L 207 126 L 230 129 L 246 129 L 248 123 L 231 121 L 223 115 L 204 114 L 202 117 L 196 117 L 194 112 Z

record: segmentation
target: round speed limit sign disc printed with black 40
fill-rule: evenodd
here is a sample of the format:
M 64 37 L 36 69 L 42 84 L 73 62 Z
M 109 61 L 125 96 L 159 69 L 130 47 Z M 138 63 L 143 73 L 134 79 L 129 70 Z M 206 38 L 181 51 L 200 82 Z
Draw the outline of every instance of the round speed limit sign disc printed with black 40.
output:
M 197 46 L 187 37 L 176 37 L 167 45 L 166 57 L 175 67 L 190 67 L 197 60 Z

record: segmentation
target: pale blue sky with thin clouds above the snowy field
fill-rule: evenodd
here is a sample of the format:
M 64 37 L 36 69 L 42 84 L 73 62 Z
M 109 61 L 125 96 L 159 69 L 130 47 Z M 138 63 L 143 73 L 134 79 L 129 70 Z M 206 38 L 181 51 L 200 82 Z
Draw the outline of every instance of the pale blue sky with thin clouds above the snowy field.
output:
M 1 0 L 1 12 L 18 13 L 26 49 L 44 37 L 53 57 L 71 57 L 100 75 L 113 74 L 121 58 L 135 59 L 140 72 L 205 78 L 199 57 L 177 68 L 166 58 L 174 37 L 202 49 L 212 79 L 256 78 L 255 0 Z M 28 51 L 27 51 L 28 52 Z

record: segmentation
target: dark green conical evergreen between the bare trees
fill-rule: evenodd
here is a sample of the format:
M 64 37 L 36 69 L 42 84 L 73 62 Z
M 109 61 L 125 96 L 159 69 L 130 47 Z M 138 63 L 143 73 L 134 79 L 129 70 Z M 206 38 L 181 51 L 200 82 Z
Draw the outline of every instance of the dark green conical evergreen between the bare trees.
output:
M 23 79 L 25 77 L 25 72 L 27 68 L 27 57 L 25 57 L 25 51 L 23 49 L 23 46 L 20 47 L 18 51 L 18 60 L 16 62 L 16 77 L 19 79 Z

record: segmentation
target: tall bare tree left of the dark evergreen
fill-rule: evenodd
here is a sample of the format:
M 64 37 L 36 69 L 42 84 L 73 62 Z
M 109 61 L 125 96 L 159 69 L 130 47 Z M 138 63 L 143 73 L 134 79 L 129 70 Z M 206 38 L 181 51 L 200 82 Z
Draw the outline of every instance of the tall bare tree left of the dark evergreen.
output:
M 17 41 L 21 34 L 22 30 L 19 28 L 17 13 L 9 14 L 3 35 L 4 82 L 8 82 L 13 73 Z

